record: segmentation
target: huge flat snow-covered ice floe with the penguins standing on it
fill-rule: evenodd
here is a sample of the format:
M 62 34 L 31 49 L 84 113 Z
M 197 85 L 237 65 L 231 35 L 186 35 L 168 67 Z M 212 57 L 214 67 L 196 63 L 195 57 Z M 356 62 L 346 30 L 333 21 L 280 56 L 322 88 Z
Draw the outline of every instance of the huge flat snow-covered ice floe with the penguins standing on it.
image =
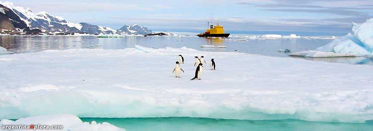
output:
M 183 55 L 185 70 L 172 69 Z M 214 59 L 194 76 L 194 56 Z M 27 59 L 25 59 L 27 58 Z M 194 49 L 48 50 L 0 56 L 0 120 L 204 117 L 373 120 L 373 66 Z M 208 63 L 208 61 L 207 61 Z

